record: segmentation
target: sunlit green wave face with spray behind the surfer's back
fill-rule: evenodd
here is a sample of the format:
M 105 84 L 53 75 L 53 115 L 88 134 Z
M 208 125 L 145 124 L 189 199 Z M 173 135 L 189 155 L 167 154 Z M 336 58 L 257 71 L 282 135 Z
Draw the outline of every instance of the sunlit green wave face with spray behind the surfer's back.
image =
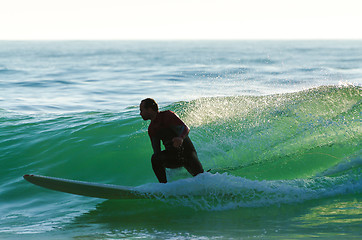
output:
M 360 88 L 325 86 L 204 98 L 175 110 L 194 127 L 192 137 L 208 168 L 250 179 L 295 179 L 360 156 L 361 99 Z

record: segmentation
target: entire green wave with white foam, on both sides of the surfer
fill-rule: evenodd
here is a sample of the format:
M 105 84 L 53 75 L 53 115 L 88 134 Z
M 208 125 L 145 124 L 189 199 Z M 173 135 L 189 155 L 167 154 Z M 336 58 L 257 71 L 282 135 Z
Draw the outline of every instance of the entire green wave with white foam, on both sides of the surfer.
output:
M 166 185 L 155 183 L 148 123 L 137 106 L 120 113 L 2 112 L 0 199 L 32 198 L 21 178 L 27 173 L 138 186 L 163 201 L 208 210 L 361 193 L 361 93 L 322 86 L 173 103 L 166 108 L 191 127 L 199 158 L 212 170 L 195 178 L 170 170 Z

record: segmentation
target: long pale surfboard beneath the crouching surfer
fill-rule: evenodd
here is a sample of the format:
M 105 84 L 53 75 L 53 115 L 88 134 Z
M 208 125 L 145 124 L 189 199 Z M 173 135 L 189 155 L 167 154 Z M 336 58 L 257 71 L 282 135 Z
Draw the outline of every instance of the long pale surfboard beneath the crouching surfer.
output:
M 28 182 L 40 187 L 87 197 L 105 199 L 141 199 L 150 197 L 133 187 L 127 186 L 83 182 L 40 175 L 27 174 L 23 177 Z

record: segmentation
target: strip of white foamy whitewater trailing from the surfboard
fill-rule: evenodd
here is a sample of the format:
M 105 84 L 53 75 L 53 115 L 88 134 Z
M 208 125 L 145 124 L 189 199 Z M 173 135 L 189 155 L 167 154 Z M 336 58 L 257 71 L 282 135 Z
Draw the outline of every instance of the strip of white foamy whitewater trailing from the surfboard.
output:
M 308 200 L 360 193 L 362 180 L 355 177 L 316 177 L 294 180 L 250 180 L 223 174 L 203 173 L 166 184 L 149 183 L 135 190 L 175 205 L 200 210 L 229 210 L 302 203 Z

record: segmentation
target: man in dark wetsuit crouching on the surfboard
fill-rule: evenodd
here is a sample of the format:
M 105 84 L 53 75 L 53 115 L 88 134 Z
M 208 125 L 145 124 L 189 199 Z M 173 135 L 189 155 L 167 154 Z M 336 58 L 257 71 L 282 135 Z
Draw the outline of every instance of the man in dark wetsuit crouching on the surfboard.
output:
M 190 128 L 174 112 L 159 111 L 155 100 L 146 98 L 141 101 L 140 115 L 145 121 L 151 120 L 148 126 L 153 148 L 151 162 L 160 183 L 167 182 L 166 168 L 185 167 L 192 176 L 204 172 L 188 137 Z M 161 151 L 161 141 L 164 151 Z

